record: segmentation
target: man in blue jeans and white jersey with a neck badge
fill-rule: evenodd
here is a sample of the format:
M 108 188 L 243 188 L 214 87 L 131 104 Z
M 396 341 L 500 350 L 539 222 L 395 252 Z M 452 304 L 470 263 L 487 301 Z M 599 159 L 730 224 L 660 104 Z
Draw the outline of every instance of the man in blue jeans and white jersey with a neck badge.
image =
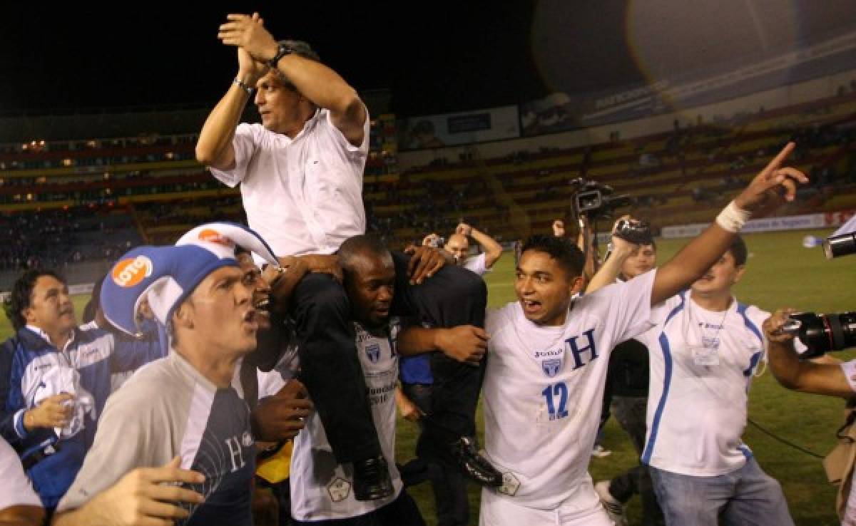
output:
M 648 433 L 642 462 L 669 526 L 794 524 L 782 487 L 758 467 L 740 435 L 752 375 L 764 357 L 770 314 L 740 304 L 731 288 L 746 244 L 728 251 L 690 290 L 666 301 L 668 316 L 637 337 L 651 355 Z

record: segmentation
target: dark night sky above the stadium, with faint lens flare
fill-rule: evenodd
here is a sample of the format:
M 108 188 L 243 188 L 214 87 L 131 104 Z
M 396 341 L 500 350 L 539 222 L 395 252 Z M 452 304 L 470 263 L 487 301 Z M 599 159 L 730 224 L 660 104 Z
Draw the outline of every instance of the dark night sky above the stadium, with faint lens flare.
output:
M 357 89 L 391 89 L 399 115 L 520 103 L 554 89 L 623 87 L 651 79 L 655 70 L 669 74 L 762 46 L 788 49 L 808 33 L 852 29 L 856 19 L 856 0 L 277 0 L 189 6 L 181 0 L 115 2 L 107 8 L 4 6 L 0 114 L 210 105 L 237 69 L 235 50 L 219 43 L 217 26 L 228 12 L 254 9 L 276 38 L 311 42 Z

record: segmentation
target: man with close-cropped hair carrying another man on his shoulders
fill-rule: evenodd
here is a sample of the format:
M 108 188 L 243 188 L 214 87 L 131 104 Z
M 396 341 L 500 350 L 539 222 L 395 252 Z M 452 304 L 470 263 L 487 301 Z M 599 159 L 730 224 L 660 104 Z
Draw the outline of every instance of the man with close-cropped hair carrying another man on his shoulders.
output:
M 402 330 L 390 316 L 398 292 L 395 261 L 378 239 L 360 235 L 347 239 L 339 250 L 348 291 L 350 316 L 362 374 L 369 388 L 372 418 L 383 455 L 390 466 L 393 494 L 364 502 L 354 499 L 354 476 L 337 466 L 326 438 L 326 426 L 313 413 L 294 440 L 291 497 L 294 518 L 305 524 L 423 524 L 419 510 L 401 487 L 395 468 L 395 385 L 399 355 L 443 352 L 470 365 L 484 355 L 484 330 L 473 326 Z

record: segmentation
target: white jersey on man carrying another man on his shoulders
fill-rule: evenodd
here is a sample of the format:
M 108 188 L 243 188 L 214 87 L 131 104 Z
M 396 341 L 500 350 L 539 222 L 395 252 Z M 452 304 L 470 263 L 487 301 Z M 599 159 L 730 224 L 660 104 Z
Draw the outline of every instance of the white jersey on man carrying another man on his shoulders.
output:
M 395 339 L 399 322 L 397 318 L 390 319 L 389 337 L 369 334 L 358 323 L 354 323 L 354 328 L 372 419 L 383 457 L 389 465 L 394 491 L 386 499 L 354 499 L 350 464 L 347 470 L 336 464 L 321 419 L 313 411 L 306 418 L 306 427 L 294 439 L 291 455 L 291 515 L 299 521 L 359 517 L 388 505 L 401 493 L 401 476 L 395 469 L 395 386 L 398 383 Z

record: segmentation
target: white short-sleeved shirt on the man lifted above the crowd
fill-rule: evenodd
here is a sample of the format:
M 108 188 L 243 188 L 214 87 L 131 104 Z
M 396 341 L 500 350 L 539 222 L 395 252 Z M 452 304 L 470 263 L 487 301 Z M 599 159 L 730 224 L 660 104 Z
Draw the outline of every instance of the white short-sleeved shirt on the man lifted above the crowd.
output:
M 227 186 L 241 184 L 247 222 L 277 256 L 331 254 L 366 232 L 363 168 L 369 117 L 360 146 L 351 145 L 319 109 L 294 139 L 261 124 L 235 130 L 235 168 L 211 168 Z

